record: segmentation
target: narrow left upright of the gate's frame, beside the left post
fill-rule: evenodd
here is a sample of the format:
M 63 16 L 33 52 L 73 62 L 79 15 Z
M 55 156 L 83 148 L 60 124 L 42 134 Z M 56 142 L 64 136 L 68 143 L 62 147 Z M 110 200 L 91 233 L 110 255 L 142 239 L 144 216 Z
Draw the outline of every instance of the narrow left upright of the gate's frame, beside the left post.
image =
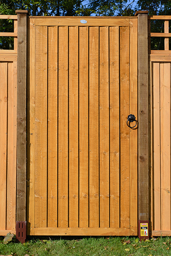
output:
M 28 173 L 28 216 L 27 216 L 27 234 L 34 235 L 35 228 L 35 19 L 30 19 L 30 65 L 29 65 L 29 75 L 30 75 L 30 152 L 29 154 L 30 163 L 29 173 Z M 29 204 L 29 205 L 28 205 Z M 33 214 L 34 212 L 34 214 Z M 30 223 L 30 226 L 28 226 Z

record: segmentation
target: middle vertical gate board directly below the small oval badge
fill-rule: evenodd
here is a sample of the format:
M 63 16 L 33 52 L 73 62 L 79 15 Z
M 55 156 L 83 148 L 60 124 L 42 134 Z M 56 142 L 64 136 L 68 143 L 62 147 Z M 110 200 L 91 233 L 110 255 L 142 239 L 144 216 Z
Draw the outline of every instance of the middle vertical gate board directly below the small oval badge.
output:
M 79 27 L 79 227 L 89 226 L 89 28 Z

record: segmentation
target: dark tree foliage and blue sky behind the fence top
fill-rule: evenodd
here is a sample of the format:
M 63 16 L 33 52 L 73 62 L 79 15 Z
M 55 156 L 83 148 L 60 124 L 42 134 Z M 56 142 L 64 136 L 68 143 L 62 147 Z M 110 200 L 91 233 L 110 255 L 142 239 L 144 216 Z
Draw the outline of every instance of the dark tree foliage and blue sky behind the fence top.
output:
M 32 16 L 133 16 L 136 10 L 149 15 L 171 15 L 171 0 L 0 0 L 0 14 L 28 10 Z M 13 22 L 0 20 L 0 32 L 13 32 Z M 164 32 L 164 22 L 151 21 L 151 32 Z M 13 38 L 0 37 L 1 49 L 12 49 Z M 164 39 L 152 38 L 151 47 L 162 50 Z

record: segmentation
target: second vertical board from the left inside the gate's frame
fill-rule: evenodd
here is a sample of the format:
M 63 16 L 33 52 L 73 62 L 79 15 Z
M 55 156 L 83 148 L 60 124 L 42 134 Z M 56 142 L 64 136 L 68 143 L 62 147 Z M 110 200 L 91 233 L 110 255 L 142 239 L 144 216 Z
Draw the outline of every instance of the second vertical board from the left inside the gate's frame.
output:
M 58 29 L 48 27 L 47 226 L 57 226 Z

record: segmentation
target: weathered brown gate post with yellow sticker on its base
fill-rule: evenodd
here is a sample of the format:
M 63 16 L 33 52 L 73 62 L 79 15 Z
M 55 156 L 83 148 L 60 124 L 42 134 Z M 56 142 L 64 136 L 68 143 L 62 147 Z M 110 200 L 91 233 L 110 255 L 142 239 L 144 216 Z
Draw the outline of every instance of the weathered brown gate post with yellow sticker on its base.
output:
M 148 11 L 138 15 L 138 176 L 139 238 L 149 237 L 149 93 L 148 93 Z

